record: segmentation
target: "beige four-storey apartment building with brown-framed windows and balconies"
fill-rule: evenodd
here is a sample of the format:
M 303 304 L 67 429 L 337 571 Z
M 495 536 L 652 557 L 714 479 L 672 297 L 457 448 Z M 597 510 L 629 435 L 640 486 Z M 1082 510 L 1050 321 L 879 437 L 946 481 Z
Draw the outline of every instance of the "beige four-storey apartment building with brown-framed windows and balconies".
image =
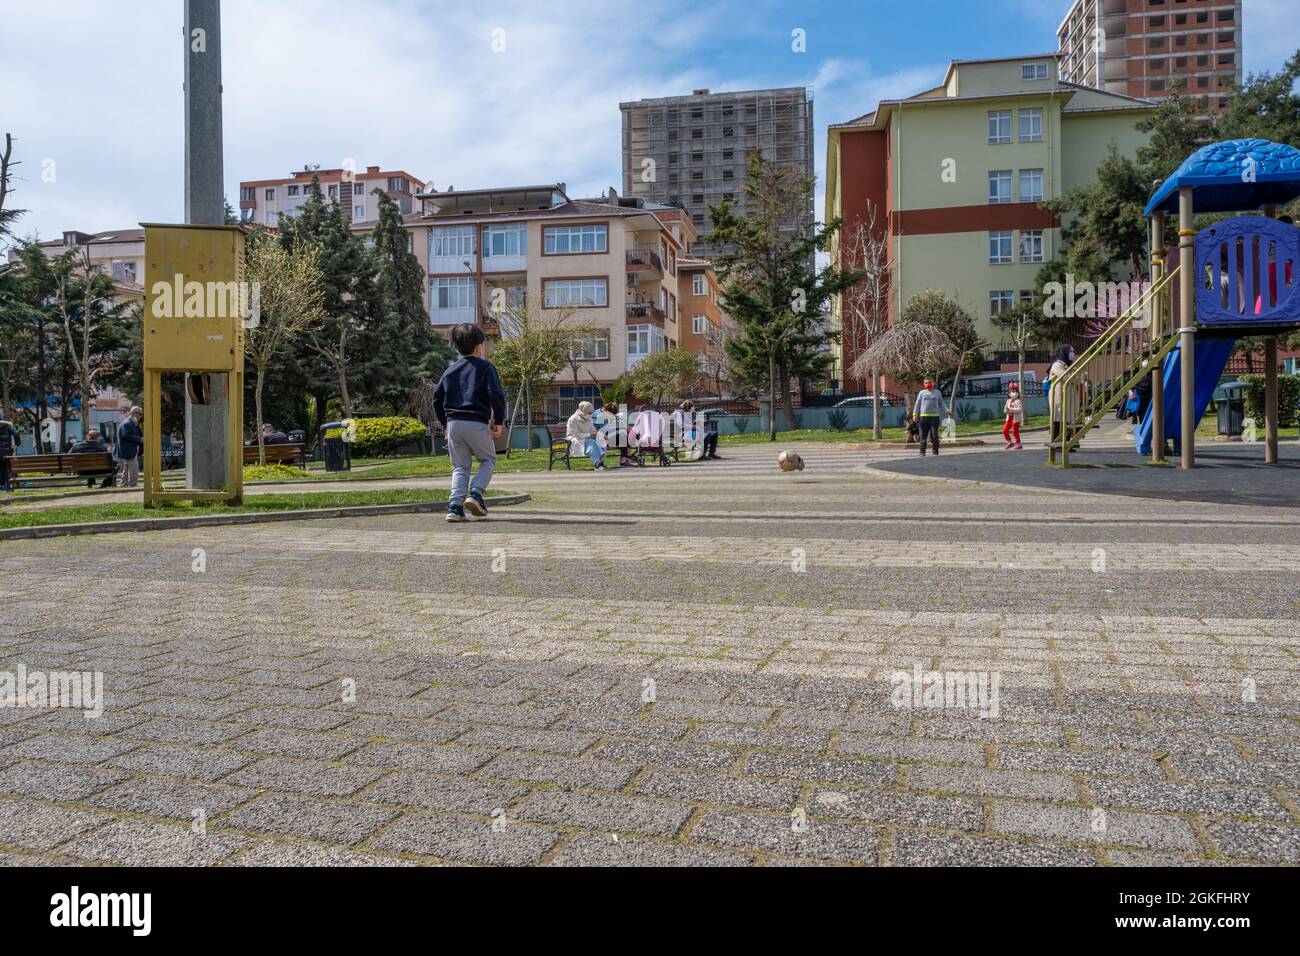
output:
M 434 328 L 476 323 L 495 338 L 510 333 L 497 307 L 532 302 L 592 329 L 575 352 L 576 385 L 566 369 L 545 397 L 552 414 L 682 343 L 679 256 L 696 237 L 680 209 L 615 190 L 572 199 L 564 183 L 448 189 L 419 200 L 406 225 L 429 277 Z

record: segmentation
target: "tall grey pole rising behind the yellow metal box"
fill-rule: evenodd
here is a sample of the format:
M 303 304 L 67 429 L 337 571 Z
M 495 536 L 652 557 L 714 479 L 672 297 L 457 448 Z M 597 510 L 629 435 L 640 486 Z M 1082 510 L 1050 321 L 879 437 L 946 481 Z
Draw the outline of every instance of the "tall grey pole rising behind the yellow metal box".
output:
M 221 0 L 185 0 L 185 221 L 221 225 L 225 220 Z M 190 488 L 226 484 L 228 377 L 209 376 L 212 397 L 207 405 L 191 402 L 186 389 L 185 476 Z

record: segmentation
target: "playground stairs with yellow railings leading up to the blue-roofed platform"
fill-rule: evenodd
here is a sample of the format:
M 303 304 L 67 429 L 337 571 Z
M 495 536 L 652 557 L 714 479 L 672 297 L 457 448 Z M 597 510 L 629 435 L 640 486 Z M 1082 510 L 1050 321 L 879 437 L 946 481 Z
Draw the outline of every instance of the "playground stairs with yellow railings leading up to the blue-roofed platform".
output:
M 1048 442 L 1048 462 L 1070 467 L 1070 451 L 1084 434 L 1113 412 L 1128 397 L 1128 389 L 1144 376 L 1160 373 L 1165 356 L 1178 345 L 1173 316 L 1171 285 L 1174 269 L 1130 304 L 1075 359 L 1060 380 L 1052 382 L 1052 397 L 1061 403 L 1061 434 Z

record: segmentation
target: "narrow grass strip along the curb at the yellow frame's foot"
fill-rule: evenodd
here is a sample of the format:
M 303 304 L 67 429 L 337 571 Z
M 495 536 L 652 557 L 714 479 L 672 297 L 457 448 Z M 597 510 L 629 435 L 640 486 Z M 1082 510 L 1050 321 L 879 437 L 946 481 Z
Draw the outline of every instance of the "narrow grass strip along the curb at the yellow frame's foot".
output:
M 489 490 L 488 497 L 510 492 Z M 143 505 L 82 505 L 48 507 L 34 511 L 0 514 L 0 528 L 29 528 L 46 524 L 79 524 L 84 522 L 125 522 L 134 518 L 187 518 L 194 515 L 233 515 L 264 511 L 306 511 L 321 507 L 360 507 L 364 505 L 411 505 L 446 501 L 446 488 L 395 488 L 377 492 L 311 492 L 307 494 L 251 494 L 244 503 L 231 507 L 225 502 L 168 501 L 157 507 Z

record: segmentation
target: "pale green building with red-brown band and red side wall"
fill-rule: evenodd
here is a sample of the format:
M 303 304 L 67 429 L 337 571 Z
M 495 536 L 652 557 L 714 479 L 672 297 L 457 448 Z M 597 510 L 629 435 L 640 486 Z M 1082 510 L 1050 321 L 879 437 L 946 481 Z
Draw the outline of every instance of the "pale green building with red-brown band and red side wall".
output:
M 1136 124 L 1153 109 L 1061 79 L 1054 53 L 953 61 L 933 90 L 828 129 L 826 217 L 849 232 L 875 211 L 893 259 L 890 321 L 911 295 L 940 289 L 1006 359 L 993 316 L 1032 297 L 1061 252 L 1061 224 L 1040 203 L 1092 181 L 1112 143 L 1135 155 Z M 842 329 L 842 302 L 832 308 Z M 841 369 L 857 358 L 837 351 Z

